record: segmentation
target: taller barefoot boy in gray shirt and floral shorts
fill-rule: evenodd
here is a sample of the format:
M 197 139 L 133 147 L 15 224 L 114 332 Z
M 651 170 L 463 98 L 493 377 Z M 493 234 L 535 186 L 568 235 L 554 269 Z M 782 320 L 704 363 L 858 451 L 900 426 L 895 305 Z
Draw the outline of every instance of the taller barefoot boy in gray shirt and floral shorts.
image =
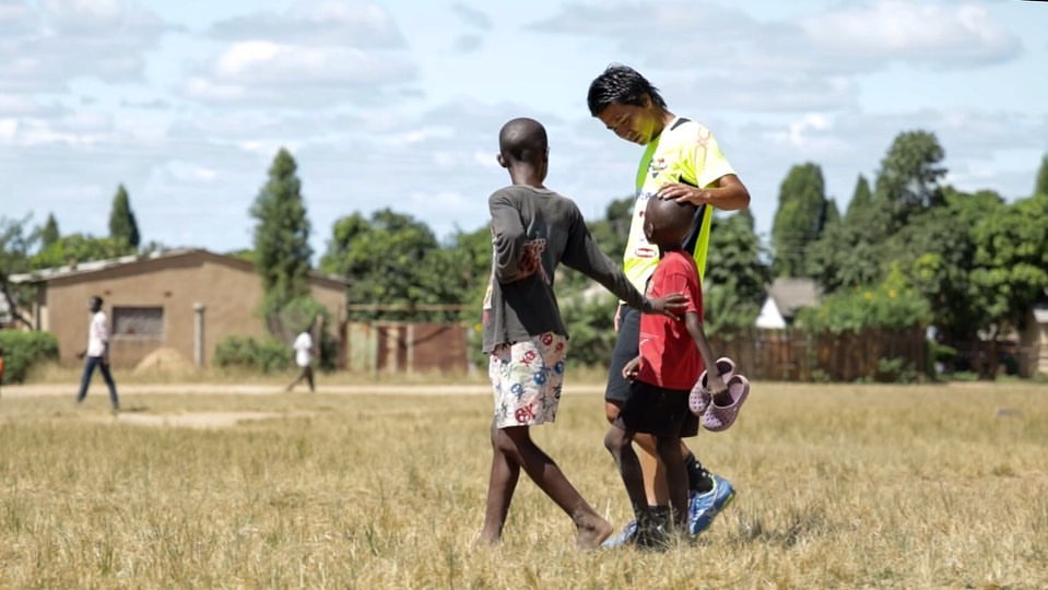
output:
M 479 542 L 494 544 L 503 527 L 520 469 L 575 522 L 576 545 L 593 548 L 612 528 L 581 497 L 564 473 L 531 440 L 530 426 L 556 418 L 567 330 L 553 278 L 564 262 L 646 312 L 672 316 L 685 306 L 681 294 L 645 298 L 586 228 L 578 206 L 542 186 L 549 169 L 545 129 L 514 119 L 498 134 L 498 163 L 513 185 L 487 201 L 492 215 L 492 278 L 484 298 L 484 352 L 495 397 L 492 472 Z

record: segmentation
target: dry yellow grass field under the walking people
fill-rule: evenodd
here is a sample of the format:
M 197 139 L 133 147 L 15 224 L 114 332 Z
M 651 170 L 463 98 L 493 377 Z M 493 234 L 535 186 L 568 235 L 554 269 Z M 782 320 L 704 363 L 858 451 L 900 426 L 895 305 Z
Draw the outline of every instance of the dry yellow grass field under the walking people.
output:
M 619 527 L 599 388 L 535 438 Z M 75 377 L 73 377 L 75 379 Z M 1048 386 L 755 384 L 692 439 L 735 502 L 666 553 L 576 552 L 521 477 L 474 548 L 491 399 L 478 384 L 5 387 L 0 588 L 1046 588 Z M 461 391 L 461 392 L 458 392 Z M 48 394 L 50 393 L 50 394 Z

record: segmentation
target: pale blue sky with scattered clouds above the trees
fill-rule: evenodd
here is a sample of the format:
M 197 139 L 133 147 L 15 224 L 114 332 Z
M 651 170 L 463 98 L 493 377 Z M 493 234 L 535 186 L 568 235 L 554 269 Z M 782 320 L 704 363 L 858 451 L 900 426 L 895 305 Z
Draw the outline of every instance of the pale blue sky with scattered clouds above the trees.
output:
M 1046 33 L 1023 0 L 0 0 L 0 215 L 106 236 L 122 184 L 143 243 L 250 248 L 283 146 L 317 256 L 387 208 L 448 239 L 487 223 L 525 116 L 546 186 L 599 219 L 643 150 L 586 106 L 613 62 L 714 132 L 765 240 L 791 166 L 844 211 L 903 131 L 1013 201 L 1048 154 Z

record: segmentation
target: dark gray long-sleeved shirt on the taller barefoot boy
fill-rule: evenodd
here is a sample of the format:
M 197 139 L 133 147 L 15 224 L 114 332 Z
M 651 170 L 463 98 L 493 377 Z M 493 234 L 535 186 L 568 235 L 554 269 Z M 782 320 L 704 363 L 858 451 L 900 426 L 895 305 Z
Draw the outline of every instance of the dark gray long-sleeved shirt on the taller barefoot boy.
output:
M 561 262 L 593 279 L 631 307 L 641 295 L 593 241 L 574 201 L 513 185 L 487 199 L 492 276 L 484 297 L 484 352 L 545 332 L 567 335 L 553 279 Z

